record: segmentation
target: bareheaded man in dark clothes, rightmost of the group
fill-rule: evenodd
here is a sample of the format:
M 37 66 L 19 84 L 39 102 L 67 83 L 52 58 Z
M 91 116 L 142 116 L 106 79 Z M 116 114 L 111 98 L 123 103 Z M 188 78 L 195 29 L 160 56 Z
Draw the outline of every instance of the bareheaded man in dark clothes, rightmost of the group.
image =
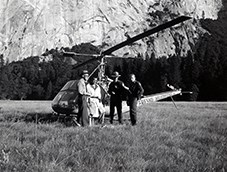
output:
M 130 74 L 130 86 L 128 105 L 130 108 L 131 124 L 136 125 L 137 122 L 137 100 L 141 99 L 144 89 L 139 81 L 136 80 L 135 74 Z

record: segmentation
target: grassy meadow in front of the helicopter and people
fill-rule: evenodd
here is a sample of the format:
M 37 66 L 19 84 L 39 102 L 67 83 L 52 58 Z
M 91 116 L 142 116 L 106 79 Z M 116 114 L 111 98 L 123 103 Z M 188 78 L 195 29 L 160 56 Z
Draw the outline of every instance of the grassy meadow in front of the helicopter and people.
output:
M 2 106 L 0 171 L 227 171 L 227 103 L 176 105 L 139 107 L 134 127 L 126 113 L 125 125 L 85 128 L 13 122 L 7 115 L 26 111 L 10 114 Z

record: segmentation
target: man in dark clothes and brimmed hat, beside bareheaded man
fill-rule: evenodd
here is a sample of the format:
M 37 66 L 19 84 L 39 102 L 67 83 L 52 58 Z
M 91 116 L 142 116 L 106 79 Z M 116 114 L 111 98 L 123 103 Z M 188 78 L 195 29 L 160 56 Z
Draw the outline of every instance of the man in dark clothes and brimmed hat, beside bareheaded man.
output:
M 114 118 L 114 108 L 117 108 L 118 121 L 120 124 L 122 121 L 122 97 L 125 90 L 129 88 L 124 85 L 124 83 L 118 78 L 121 75 L 115 71 L 112 75 L 113 82 L 110 83 L 108 93 L 110 94 L 110 123 L 113 124 Z

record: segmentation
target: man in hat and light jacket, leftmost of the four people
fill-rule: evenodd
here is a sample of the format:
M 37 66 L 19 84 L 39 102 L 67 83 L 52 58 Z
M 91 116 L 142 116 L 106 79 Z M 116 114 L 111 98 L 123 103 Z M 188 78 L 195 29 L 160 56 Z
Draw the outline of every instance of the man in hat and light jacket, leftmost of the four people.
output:
M 77 122 L 80 123 L 82 126 L 88 126 L 89 125 L 89 118 L 88 118 L 88 104 L 87 104 L 87 97 L 89 97 L 89 93 L 87 92 L 87 81 L 88 81 L 88 71 L 83 70 L 81 73 L 81 79 L 79 80 L 77 84 L 77 90 L 78 90 L 78 118 Z

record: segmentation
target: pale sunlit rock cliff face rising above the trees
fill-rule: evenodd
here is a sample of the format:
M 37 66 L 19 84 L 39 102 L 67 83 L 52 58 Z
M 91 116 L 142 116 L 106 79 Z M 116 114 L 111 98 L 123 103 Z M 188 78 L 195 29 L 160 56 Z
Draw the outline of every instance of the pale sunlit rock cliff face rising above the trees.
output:
M 217 19 L 221 0 L 0 0 L 0 54 L 9 61 L 46 49 L 90 42 L 106 49 L 180 15 L 194 20 L 116 52 L 185 55 L 205 32 L 197 19 Z

